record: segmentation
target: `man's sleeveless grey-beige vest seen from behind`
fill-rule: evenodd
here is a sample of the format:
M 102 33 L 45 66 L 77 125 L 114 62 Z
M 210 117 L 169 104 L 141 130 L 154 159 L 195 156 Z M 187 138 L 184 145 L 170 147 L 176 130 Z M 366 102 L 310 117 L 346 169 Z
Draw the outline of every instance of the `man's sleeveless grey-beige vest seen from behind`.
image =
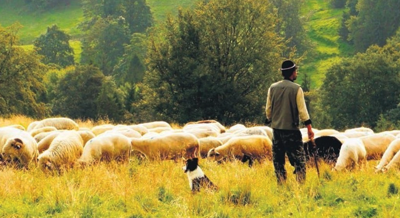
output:
M 296 96 L 300 85 L 284 79 L 271 85 L 271 127 L 299 130 L 300 117 Z

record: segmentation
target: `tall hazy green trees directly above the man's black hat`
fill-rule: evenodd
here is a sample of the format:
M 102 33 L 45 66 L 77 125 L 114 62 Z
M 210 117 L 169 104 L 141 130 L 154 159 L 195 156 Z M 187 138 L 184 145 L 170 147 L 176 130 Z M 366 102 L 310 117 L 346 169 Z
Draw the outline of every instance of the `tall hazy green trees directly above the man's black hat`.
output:
M 288 41 L 289 50 L 285 51 L 283 56 L 288 57 L 292 47 L 295 47 L 298 53 L 304 53 L 311 46 L 304 29 L 305 17 L 300 15 L 304 0 L 272 0 L 272 4 L 279 17 L 276 32 Z

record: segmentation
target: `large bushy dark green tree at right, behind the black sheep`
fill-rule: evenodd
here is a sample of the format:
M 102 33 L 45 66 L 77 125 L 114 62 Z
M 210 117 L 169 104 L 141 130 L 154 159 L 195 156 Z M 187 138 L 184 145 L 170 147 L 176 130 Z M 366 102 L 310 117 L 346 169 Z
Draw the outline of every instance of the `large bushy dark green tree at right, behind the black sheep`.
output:
M 379 115 L 396 105 L 399 85 L 399 67 L 392 56 L 384 48 L 371 47 L 329 69 L 321 104 L 335 118 L 333 128 L 374 127 Z

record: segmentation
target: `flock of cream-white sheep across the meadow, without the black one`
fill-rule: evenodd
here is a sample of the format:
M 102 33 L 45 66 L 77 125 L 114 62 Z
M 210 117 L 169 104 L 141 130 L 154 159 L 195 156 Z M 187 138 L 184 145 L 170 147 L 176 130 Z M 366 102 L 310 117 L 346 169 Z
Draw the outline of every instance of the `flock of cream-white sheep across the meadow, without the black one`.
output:
M 334 161 L 336 171 L 378 158 L 381 161 L 377 171 L 400 165 L 400 130 L 374 133 L 365 127 L 344 132 L 314 129 L 314 152 L 306 130 L 301 132 L 307 156 L 316 152 L 320 158 Z M 251 166 L 255 160 L 272 159 L 272 129 L 241 124 L 225 128 L 213 120 L 188 123 L 182 128 L 157 121 L 89 129 L 69 118 L 48 118 L 32 122 L 26 130 L 21 125 L 1 127 L 0 151 L 3 165 L 27 168 L 33 162 L 43 171 L 61 171 L 99 161 L 127 161 L 131 156 L 149 160 L 238 158 L 249 160 Z

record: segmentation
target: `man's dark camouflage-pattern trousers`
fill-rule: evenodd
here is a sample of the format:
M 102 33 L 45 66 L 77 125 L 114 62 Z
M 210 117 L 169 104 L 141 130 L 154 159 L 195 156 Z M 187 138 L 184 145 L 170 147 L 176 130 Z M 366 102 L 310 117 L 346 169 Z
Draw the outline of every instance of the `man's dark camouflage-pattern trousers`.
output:
M 305 180 L 305 153 L 300 130 L 273 129 L 272 156 L 273 167 L 278 184 L 287 179 L 285 169 L 285 155 L 288 154 L 290 164 L 294 167 L 294 174 L 299 183 Z

